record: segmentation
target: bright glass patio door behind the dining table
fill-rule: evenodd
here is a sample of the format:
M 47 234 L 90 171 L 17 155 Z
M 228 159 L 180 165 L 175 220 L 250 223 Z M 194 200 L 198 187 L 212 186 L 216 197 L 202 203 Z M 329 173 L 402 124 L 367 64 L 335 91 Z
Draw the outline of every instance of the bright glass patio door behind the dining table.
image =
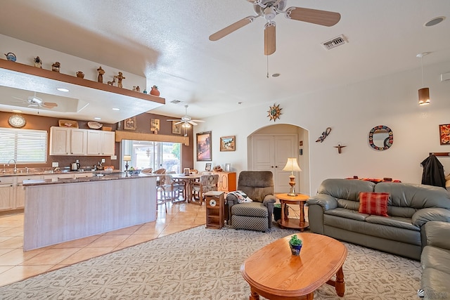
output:
M 134 169 L 152 168 L 155 171 L 163 168 L 167 172 L 180 173 L 181 143 L 123 140 L 122 153 L 131 155 L 129 166 Z

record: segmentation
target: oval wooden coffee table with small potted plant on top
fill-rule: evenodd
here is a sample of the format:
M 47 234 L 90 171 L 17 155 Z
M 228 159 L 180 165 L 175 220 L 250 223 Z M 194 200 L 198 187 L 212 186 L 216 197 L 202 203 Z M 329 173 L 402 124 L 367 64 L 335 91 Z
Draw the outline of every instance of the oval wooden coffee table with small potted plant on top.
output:
M 323 284 L 333 285 L 338 296 L 344 296 L 342 265 L 347 258 L 344 244 L 325 235 L 297 233 L 303 241 L 300 256 L 290 253 L 283 237 L 259 249 L 246 259 L 240 272 L 250 285 L 250 300 L 313 299 Z M 335 280 L 331 280 L 336 275 Z

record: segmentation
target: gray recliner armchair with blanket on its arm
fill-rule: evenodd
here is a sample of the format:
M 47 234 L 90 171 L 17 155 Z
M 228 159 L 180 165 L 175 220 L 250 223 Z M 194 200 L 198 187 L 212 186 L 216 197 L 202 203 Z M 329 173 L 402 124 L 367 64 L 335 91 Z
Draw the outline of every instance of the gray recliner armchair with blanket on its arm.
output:
M 264 232 L 272 228 L 272 214 L 276 202 L 272 172 L 241 171 L 238 190 L 242 190 L 253 202 L 239 203 L 236 195 L 226 195 L 231 227 Z

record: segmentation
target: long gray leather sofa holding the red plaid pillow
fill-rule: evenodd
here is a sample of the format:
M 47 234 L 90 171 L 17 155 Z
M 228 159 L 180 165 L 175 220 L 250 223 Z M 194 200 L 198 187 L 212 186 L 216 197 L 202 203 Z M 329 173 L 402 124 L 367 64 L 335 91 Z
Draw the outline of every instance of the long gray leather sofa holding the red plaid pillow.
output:
M 360 192 L 390 193 L 389 216 L 359 213 Z M 431 185 L 326 179 L 307 205 L 313 233 L 416 260 L 425 223 L 450 222 L 450 193 Z

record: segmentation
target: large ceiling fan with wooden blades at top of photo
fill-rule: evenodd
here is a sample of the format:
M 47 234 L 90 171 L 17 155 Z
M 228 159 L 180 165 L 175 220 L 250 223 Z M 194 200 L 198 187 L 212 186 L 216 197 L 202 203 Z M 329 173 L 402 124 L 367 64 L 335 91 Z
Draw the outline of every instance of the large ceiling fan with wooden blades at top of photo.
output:
M 250 24 L 256 18 L 264 16 L 266 25 L 264 25 L 264 55 L 270 56 L 276 50 L 275 22 L 273 21 L 278 13 L 283 13 L 286 18 L 302 22 L 309 22 L 323 26 L 333 26 L 340 20 L 340 13 L 333 11 L 319 11 L 312 8 L 300 8 L 291 6 L 285 9 L 287 0 L 247 0 L 253 4 L 253 9 L 257 15 L 250 15 L 239 20 L 222 30 L 210 35 L 210 41 L 217 41 L 226 37 L 231 32 L 238 30 L 245 25 Z

